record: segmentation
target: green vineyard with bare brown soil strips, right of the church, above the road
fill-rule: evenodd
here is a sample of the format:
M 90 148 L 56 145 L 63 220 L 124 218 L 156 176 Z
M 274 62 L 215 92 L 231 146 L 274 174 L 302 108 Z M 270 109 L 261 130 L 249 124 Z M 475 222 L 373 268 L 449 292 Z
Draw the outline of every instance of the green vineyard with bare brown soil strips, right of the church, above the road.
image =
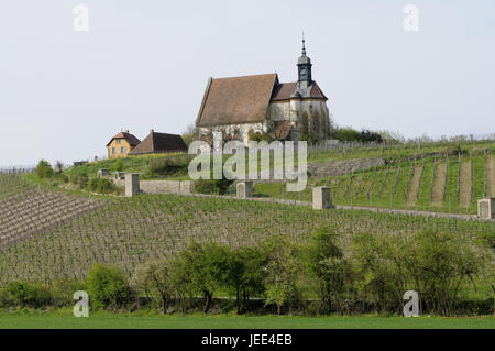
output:
M 310 185 L 330 186 L 337 205 L 476 213 L 476 200 L 495 196 L 495 155 L 484 150 L 455 156 L 398 160 L 384 166 L 329 178 Z M 283 184 L 255 187 L 258 196 L 310 200 L 304 193 L 286 193 Z

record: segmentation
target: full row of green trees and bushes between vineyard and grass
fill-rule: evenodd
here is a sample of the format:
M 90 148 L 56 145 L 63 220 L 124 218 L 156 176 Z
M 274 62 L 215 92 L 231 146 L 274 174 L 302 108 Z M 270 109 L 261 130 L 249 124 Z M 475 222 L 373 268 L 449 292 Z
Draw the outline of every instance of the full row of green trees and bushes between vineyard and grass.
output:
M 85 282 L 12 282 L 0 289 L 0 306 L 70 306 L 72 294 L 85 289 L 91 308 L 112 310 L 207 314 L 222 305 L 238 314 L 400 314 L 404 293 L 416 290 L 421 314 L 493 312 L 492 237 L 363 233 L 345 248 L 342 239 L 320 228 L 305 244 L 283 237 L 240 248 L 193 242 L 144 262 L 129 277 L 97 264 Z M 477 294 L 482 284 L 492 297 Z

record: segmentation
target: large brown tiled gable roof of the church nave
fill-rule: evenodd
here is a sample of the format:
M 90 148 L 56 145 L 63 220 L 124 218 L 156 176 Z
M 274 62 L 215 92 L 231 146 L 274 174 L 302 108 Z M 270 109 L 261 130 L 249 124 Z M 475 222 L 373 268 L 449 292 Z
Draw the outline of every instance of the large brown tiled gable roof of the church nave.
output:
M 205 91 L 197 125 L 264 121 L 277 74 L 211 79 Z

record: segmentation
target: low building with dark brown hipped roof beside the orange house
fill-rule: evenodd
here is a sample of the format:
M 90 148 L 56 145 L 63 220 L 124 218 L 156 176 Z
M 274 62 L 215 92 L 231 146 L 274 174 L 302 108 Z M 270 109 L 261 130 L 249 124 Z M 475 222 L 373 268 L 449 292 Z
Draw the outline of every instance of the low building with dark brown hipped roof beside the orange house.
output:
M 184 142 L 183 136 L 177 134 L 157 133 L 152 129 L 150 134 L 130 152 L 130 155 L 187 152 L 187 150 L 188 147 Z

